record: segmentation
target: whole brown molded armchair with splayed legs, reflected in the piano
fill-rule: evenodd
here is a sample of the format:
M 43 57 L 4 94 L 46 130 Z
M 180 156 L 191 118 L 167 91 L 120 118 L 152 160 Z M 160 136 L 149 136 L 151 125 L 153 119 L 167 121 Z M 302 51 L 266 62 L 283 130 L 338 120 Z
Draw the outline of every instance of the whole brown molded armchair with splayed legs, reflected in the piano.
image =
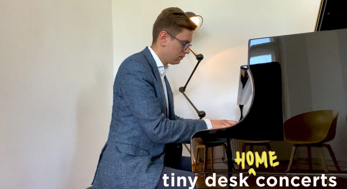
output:
M 329 150 L 336 169 L 341 171 L 331 146 L 324 144 L 324 142 L 335 138 L 337 116 L 338 112 L 333 110 L 318 110 L 296 115 L 284 122 L 283 132 L 285 141 L 294 144 L 286 172 L 291 168 L 297 147 L 307 147 L 309 170 L 312 170 L 311 147 L 318 147 L 324 163 L 323 169 L 325 172 L 328 172 L 322 148 L 326 147 Z

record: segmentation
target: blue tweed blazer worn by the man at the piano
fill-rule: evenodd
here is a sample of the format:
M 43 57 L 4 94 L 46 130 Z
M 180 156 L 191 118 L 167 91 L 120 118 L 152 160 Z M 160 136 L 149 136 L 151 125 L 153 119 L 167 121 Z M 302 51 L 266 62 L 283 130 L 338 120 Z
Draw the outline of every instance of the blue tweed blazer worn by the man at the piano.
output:
M 161 179 L 167 143 L 186 143 L 203 120 L 175 115 L 172 91 L 165 77 L 169 115 L 158 67 L 146 47 L 126 58 L 113 85 L 110 131 L 102 148 L 93 189 L 154 189 Z M 181 144 L 180 144 L 181 145 Z

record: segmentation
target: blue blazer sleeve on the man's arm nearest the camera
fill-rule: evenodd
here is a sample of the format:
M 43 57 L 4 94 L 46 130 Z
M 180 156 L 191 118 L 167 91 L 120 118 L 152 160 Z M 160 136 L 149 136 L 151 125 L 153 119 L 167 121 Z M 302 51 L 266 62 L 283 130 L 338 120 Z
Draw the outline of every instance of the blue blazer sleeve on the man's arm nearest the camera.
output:
M 143 131 L 155 142 L 188 142 L 199 130 L 207 129 L 203 120 L 169 120 L 160 110 L 160 98 L 156 97 L 152 69 L 149 65 L 130 60 L 122 64 L 120 88 L 130 111 Z M 161 86 L 161 85 L 159 85 Z

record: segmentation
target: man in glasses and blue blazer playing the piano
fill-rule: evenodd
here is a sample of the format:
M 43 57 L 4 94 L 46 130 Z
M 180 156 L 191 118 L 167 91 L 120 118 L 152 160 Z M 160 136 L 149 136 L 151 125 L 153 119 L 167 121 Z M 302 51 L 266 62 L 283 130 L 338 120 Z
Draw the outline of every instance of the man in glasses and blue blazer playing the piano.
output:
M 152 45 L 120 65 L 113 85 L 108 140 L 100 154 L 94 189 L 168 188 L 172 174 L 194 180 L 191 158 L 181 156 L 182 143 L 189 142 L 196 131 L 236 124 L 175 115 L 165 74 L 169 64 L 179 64 L 189 54 L 195 29 L 181 9 L 164 9 L 153 25 Z M 164 174 L 169 180 L 163 179 Z M 188 178 L 187 182 L 184 188 L 189 186 Z M 183 187 L 177 185 L 171 188 Z

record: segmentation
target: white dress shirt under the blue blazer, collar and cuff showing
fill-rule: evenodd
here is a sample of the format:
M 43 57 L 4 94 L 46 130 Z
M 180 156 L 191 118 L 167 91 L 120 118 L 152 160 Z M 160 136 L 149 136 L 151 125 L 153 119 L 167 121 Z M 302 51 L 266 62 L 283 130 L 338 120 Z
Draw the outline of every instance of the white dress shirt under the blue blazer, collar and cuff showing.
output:
M 153 51 L 153 49 L 148 46 L 148 49 L 150 50 L 154 61 L 156 63 L 156 66 L 158 67 L 158 71 L 160 74 L 160 78 L 161 78 L 161 83 L 163 84 L 163 88 L 164 88 L 164 93 L 165 93 L 165 99 L 166 99 L 166 113 L 167 115 L 169 115 L 169 100 L 168 100 L 168 91 L 166 89 L 166 83 L 164 80 L 164 76 L 165 74 L 169 71 L 169 66 L 164 67 L 163 63 L 161 62 L 161 60 L 159 59 L 159 57 L 155 54 L 155 52 Z M 207 129 L 212 129 L 212 123 L 210 120 L 208 119 L 203 119 L 206 122 L 207 125 Z

